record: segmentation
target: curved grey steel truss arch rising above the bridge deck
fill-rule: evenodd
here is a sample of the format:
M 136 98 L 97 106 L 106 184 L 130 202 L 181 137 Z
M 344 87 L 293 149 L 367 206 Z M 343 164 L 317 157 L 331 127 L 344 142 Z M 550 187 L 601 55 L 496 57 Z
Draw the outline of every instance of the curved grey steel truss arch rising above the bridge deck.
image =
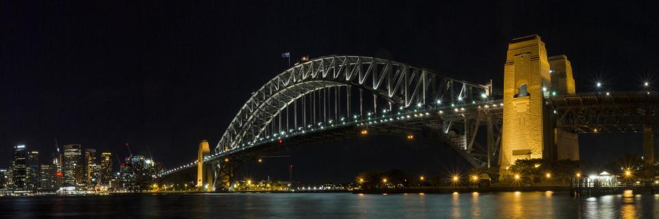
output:
M 426 105 L 436 100 L 446 103 L 465 102 L 492 94 L 491 84 L 452 79 L 425 68 L 391 60 L 351 55 L 319 57 L 284 70 L 253 92 L 222 134 L 216 153 L 244 146 L 266 134 L 277 135 L 278 132 L 272 130 L 268 133 L 268 125 L 273 125 L 276 118 L 281 121 L 283 110 L 288 110 L 291 104 L 297 107 L 295 101 L 303 99 L 305 95 L 319 90 L 331 92 L 332 88 L 334 95 L 338 95 L 335 103 L 336 99 L 341 98 L 342 89 L 346 94 L 346 109 L 340 112 L 340 117 L 344 118 L 352 115 L 349 107 L 351 88 L 375 94 L 389 103 L 386 106 L 389 110 L 393 106 Z M 340 101 L 338 104 L 341 104 Z M 329 105 L 332 105 L 331 100 Z M 288 112 L 286 119 L 290 119 Z M 281 131 L 281 127 L 278 130 Z

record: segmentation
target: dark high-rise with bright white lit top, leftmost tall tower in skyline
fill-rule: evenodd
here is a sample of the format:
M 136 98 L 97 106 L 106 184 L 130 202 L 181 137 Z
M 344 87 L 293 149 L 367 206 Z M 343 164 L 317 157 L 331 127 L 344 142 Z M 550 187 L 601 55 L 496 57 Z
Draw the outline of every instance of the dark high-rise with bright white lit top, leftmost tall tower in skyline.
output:
M 14 146 L 8 187 L 15 191 L 27 191 L 27 150 L 25 145 Z

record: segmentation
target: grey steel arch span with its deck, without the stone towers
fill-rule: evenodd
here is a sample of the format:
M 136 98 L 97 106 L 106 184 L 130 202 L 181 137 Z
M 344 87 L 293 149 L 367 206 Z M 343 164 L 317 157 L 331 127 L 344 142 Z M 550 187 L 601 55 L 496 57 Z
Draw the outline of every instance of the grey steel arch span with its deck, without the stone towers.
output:
M 203 161 L 158 177 L 204 162 L 216 170 L 213 183 L 226 187 L 242 161 L 354 138 L 365 130 L 425 135 L 448 144 L 472 166 L 490 166 L 501 136 L 497 97 L 491 81 L 472 83 L 375 57 L 320 57 L 288 68 L 253 92 Z M 476 140 L 483 126 L 485 146 Z

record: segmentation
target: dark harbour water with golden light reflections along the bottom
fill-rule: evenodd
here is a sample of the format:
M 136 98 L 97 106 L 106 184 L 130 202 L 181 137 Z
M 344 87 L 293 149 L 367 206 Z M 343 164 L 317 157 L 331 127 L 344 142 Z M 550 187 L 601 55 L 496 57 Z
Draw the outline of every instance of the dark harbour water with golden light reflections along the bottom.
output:
M 656 218 L 658 203 L 562 192 L 3 197 L 0 218 Z

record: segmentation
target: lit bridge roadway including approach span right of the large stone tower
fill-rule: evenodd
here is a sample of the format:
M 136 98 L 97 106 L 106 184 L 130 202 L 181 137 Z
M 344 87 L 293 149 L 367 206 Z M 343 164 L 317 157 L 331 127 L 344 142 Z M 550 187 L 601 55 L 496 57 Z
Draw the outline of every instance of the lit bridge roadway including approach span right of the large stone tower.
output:
M 640 132 L 647 125 L 654 130 L 659 128 L 659 92 L 594 92 L 548 96 L 546 105 L 557 114 L 556 127 L 570 129 L 576 133 Z M 284 149 L 357 138 L 362 129 L 367 129 L 371 136 L 406 136 L 411 133 L 428 135 L 428 129 L 442 128 L 445 129 L 444 133 L 448 134 L 447 123 L 463 123 L 465 118 L 476 119 L 479 114 L 500 116 L 502 107 L 500 100 L 456 106 L 408 107 L 370 120 L 344 119 L 343 122 L 339 121 L 320 129 L 299 128 L 284 136 L 264 138 L 213 153 L 205 158 L 205 162 L 223 162 L 225 158 L 240 162 L 255 160 L 275 155 Z M 450 131 L 451 127 L 448 129 Z M 469 149 L 464 144 L 455 144 L 446 136 L 438 137 L 437 140 L 456 149 L 474 166 L 482 166 L 483 159 L 476 158 L 487 155 L 486 147 L 478 145 L 478 142 L 473 142 L 476 146 Z M 493 148 L 490 156 L 496 155 L 497 150 L 497 147 Z M 167 170 L 156 177 L 193 167 L 196 167 L 196 161 Z

